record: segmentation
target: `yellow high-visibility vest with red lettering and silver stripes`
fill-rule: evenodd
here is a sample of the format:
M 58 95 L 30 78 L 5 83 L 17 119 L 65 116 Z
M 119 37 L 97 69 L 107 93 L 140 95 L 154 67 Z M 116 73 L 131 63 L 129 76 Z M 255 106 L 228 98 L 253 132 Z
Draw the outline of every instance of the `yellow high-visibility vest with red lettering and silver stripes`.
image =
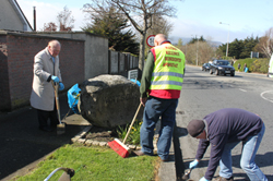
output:
M 154 56 L 156 60 L 150 89 L 181 90 L 186 63 L 183 52 L 171 44 L 163 44 L 154 47 Z

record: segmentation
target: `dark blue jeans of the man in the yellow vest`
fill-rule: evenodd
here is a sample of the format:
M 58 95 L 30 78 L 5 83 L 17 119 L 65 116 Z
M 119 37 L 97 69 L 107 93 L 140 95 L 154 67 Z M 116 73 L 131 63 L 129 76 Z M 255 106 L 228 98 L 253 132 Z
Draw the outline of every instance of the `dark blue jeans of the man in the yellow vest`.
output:
M 168 158 L 176 122 L 177 104 L 178 99 L 147 98 L 143 113 L 143 123 L 140 130 L 141 150 L 144 154 L 153 155 L 154 129 L 159 117 L 162 117 L 162 126 L 157 142 L 157 155 L 162 159 Z

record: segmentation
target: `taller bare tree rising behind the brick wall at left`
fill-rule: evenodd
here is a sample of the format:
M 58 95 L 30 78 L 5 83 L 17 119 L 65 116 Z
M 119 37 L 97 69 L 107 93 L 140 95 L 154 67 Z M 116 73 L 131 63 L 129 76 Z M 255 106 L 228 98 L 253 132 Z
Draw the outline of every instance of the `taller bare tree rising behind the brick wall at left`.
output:
M 71 32 L 74 27 L 73 23 L 75 20 L 72 16 L 72 11 L 69 11 L 67 7 L 63 8 L 63 11 L 58 13 L 57 20 L 59 23 L 59 31 Z

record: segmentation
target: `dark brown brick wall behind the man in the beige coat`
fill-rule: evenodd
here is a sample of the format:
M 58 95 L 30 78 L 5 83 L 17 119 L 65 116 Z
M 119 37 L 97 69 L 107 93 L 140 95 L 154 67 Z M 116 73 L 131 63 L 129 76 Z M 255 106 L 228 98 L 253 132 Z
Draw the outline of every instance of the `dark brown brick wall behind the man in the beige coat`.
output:
M 12 110 L 29 104 L 34 56 L 51 39 L 61 43 L 59 58 L 64 90 L 84 81 L 83 40 L 20 33 L 0 34 L 0 93 L 4 95 L 0 110 Z

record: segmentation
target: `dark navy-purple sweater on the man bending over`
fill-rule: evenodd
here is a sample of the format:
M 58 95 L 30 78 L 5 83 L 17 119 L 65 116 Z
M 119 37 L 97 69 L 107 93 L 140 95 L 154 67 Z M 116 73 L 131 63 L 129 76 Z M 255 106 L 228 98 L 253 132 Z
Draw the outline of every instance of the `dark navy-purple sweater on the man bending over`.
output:
M 202 159 L 210 144 L 211 156 L 205 179 L 212 180 L 226 143 L 244 141 L 262 129 L 259 116 L 237 108 L 225 108 L 204 117 L 207 140 L 200 140 L 195 158 Z

